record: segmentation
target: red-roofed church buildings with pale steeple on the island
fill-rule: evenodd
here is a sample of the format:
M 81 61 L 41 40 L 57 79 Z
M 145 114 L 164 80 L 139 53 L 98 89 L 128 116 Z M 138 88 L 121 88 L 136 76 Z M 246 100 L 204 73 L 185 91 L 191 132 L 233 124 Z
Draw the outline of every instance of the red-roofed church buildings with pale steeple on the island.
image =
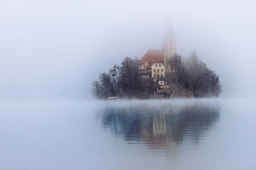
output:
M 153 78 L 164 78 L 170 72 L 168 60 L 176 53 L 175 40 L 171 32 L 164 38 L 163 49 L 149 49 L 140 59 L 140 74 L 143 81 Z

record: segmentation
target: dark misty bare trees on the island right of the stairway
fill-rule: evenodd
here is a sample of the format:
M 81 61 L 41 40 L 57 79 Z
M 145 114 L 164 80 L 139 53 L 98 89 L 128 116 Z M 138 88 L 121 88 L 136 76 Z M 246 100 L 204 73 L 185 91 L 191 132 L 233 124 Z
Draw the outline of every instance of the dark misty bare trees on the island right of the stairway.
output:
M 191 53 L 188 58 L 176 54 L 168 62 L 180 86 L 191 92 L 193 97 L 220 95 L 219 76 L 198 59 L 196 52 Z

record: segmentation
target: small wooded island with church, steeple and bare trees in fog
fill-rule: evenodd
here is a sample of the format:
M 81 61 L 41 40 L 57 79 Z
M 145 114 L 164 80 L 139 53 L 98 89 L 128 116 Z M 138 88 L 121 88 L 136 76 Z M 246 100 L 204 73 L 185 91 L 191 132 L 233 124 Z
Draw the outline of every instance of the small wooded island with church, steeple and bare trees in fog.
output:
M 99 99 L 214 97 L 221 94 L 221 84 L 195 51 L 179 55 L 167 32 L 163 49 L 149 49 L 141 59 L 125 57 L 93 80 L 91 91 Z

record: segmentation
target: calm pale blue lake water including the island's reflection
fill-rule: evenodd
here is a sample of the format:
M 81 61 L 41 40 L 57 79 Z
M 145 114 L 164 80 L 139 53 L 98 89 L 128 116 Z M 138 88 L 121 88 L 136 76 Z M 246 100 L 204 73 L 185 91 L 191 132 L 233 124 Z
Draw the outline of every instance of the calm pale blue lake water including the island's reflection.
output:
M 1 103 L 0 169 L 256 169 L 252 99 Z

